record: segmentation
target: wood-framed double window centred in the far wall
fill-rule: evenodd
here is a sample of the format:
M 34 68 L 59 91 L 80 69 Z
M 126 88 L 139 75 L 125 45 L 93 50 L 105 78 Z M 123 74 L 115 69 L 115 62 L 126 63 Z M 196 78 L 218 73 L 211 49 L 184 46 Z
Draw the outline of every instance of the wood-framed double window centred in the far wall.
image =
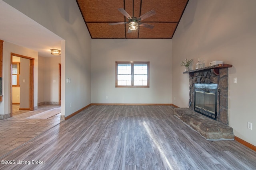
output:
M 116 87 L 149 87 L 149 62 L 117 62 Z

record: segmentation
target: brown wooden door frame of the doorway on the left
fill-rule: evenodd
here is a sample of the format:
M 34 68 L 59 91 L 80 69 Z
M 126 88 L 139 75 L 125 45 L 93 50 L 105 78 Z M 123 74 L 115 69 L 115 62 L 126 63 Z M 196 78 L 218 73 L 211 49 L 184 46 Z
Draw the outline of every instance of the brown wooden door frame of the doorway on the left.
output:
M 19 55 L 19 54 L 15 54 L 15 53 L 11 53 L 11 78 L 10 78 L 10 88 L 11 88 L 11 114 L 10 116 L 12 117 L 12 56 L 16 56 L 16 57 L 21 57 L 24 59 L 29 59 L 30 64 L 29 64 L 29 110 L 32 111 L 34 110 L 34 58 L 31 57 L 27 57 L 24 55 Z

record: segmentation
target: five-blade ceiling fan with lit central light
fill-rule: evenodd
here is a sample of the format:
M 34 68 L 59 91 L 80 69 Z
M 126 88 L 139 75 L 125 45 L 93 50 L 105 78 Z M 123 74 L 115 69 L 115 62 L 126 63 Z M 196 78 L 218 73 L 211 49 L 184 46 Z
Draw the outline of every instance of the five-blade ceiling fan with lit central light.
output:
M 143 14 L 142 16 L 140 16 L 139 18 L 136 18 L 134 16 L 130 16 L 125 10 L 124 8 L 118 8 L 118 10 L 126 17 L 128 18 L 127 22 L 116 22 L 116 23 L 109 23 L 109 25 L 118 25 L 118 24 L 125 24 L 125 23 L 129 23 L 129 29 L 127 33 L 132 32 L 132 30 L 136 30 L 138 29 L 138 26 L 143 26 L 143 27 L 147 27 L 147 28 L 154 28 L 154 25 L 150 25 L 148 23 L 142 23 L 140 22 L 141 20 L 144 20 L 148 17 L 151 17 L 153 15 L 156 14 L 156 12 L 154 10 L 151 10 L 149 12 L 147 12 L 146 14 Z M 133 13 L 133 12 L 132 12 Z

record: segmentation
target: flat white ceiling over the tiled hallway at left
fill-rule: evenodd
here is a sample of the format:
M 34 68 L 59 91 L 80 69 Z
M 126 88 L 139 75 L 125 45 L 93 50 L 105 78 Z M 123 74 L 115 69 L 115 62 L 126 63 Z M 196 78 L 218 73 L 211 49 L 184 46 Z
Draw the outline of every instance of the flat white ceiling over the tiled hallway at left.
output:
M 0 0 L 0 39 L 35 51 L 41 57 L 54 57 L 50 49 L 61 50 L 61 40 L 36 21 Z

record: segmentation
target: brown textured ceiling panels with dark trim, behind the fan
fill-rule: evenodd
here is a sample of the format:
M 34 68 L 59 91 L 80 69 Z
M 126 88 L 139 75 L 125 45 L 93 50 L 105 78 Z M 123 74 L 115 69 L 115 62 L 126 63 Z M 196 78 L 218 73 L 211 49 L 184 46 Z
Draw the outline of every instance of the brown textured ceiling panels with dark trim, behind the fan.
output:
M 76 0 L 88 31 L 93 39 L 170 39 L 174 35 L 188 0 Z M 127 33 L 128 19 L 118 11 L 124 8 L 130 16 L 138 18 L 154 10 L 156 14 L 142 23 L 154 25 L 154 28 L 139 26 Z M 133 15 L 134 14 L 134 15 Z

